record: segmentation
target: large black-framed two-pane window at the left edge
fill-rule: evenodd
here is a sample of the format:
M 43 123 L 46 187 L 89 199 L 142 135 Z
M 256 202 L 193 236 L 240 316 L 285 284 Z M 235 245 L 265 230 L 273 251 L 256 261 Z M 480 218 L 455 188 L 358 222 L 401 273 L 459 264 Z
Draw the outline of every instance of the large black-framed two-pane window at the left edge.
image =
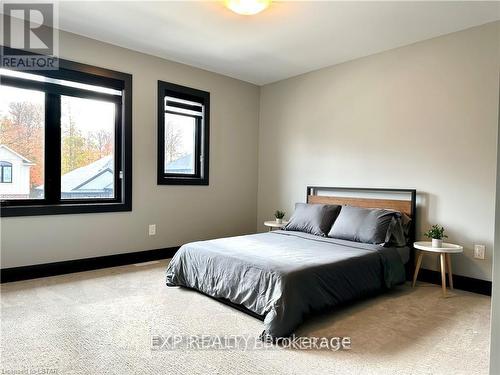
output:
M 131 76 L 60 60 L 0 79 L 1 215 L 131 210 Z

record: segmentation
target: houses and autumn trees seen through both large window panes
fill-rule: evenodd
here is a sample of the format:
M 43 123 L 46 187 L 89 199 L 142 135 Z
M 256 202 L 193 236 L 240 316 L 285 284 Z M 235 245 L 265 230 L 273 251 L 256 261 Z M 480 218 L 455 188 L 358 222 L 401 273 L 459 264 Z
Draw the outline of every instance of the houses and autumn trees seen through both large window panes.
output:
M 2 179 L 0 198 L 43 198 L 45 93 L 4 85 L 0 92 L 0 160 L 13 164 L 11 172 L 16 175 L 14 185 L 4 185 Z M 59 98 L 61 199 L 113 198 L 116 104 Z

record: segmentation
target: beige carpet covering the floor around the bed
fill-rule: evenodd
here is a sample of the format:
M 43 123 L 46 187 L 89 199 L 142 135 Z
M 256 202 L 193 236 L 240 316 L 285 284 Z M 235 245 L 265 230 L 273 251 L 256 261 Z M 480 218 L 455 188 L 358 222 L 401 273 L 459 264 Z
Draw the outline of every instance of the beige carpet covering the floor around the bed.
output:
M 315 318 L 298 332 L 350 336 L 350 351 L 152 351 L 152 335 L 262 331 L 262 322 L 244 313 L 193 291 L 167 288 L 165 265 L 162 261 L 2 285 L 1 373 L 488 372 L 490 298 L 455 291 L 444 299 L 439 287 L 430 284 L 402 286 Z

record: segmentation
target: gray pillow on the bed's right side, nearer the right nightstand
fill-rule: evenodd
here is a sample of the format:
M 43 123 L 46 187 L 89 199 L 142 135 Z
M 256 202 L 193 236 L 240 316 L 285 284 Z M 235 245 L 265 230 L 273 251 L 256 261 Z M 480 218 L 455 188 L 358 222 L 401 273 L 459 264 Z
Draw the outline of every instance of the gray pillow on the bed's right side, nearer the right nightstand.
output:
M 400 216 L 397 211 L 343 206 L 328 237 L 383 245 L 390 240 L 393 218 Z

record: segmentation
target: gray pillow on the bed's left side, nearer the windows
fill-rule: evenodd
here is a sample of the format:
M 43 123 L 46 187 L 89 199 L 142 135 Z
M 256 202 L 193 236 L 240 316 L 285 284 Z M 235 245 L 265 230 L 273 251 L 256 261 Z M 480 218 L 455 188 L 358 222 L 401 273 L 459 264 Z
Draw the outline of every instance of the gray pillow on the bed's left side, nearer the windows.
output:
M 284 230 L 325 236 L 340 212 L 340 206 L 296 203 L 295 211 Z

